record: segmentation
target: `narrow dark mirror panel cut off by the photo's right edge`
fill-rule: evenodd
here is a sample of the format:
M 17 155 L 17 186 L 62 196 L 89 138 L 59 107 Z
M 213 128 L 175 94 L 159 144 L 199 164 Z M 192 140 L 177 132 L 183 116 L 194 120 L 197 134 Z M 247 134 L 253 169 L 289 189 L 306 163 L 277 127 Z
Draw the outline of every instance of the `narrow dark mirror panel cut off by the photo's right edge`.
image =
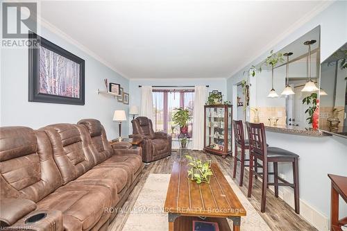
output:
M 347 138 L 347 43 L 321 64 L 319 128 Z

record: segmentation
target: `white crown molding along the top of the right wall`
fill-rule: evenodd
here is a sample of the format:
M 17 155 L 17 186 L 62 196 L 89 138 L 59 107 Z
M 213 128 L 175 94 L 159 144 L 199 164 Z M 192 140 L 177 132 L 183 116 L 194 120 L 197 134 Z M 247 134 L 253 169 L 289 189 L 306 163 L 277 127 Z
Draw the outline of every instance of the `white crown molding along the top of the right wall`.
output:
M 239 68 L 237 68 L 235 71 L 232 71 L 232 74 L 227 77 L 226 79 L 232 78 L 232 76 L 235 76 L 239 71 L 242 71 L 243 69 L 246 69 L 248 65 L 251 65 L 253 62 L 255 62 L 257 59 L 261 58 L 266 51 L 270 51 L 271 48 L 282 42 L 282 40 L 285 40 L 286 37 L 291 35 L 291 33 L 294 33 L 298 28 L 301 28 L 301 26 L 305 25 L 307 22 L 310 21 L 313 17 L 318 15 L 320 12 L 328 8 L 335 0 L 332 1 L 323 1 L 318 6 L 307 12 L 306 15 L 301 17 L 301 19 L 298 19 L 292 26 L 290 26 L 284 33 L 278 35 L 274 40 L 269 42 L 260 52 L 257 53 L 257 55 L 254 55 L 256 58 L 250 58 L 246 62 L 244 62 L 243 65 L 241 65 Z M 318 25 L 316 25 L 318 26 Z M 315 26 L 314 26 L 315 27 Z M 313 29 L 313 28 L 312 28 Z M 264 57 L 265 58 L 265 57 Z

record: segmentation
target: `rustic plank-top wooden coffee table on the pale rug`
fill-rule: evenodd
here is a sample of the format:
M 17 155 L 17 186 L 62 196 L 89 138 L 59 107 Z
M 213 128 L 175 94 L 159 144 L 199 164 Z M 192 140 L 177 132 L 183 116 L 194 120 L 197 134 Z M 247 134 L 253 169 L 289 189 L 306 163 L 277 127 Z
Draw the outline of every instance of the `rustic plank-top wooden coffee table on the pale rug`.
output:
M 169 213 L 169 231 L 192 230 L 192 221 L 212 221 L 219 224 L 220 231 L 239 231 L 241 216 L 246 210 L 224 178 L 221 169 L 212 163 L 210 184 L 196 184 L 187 177 L 187 162 L 174 162 L 164 210 Z M 201 219 L 201 217 L 206 219 Z

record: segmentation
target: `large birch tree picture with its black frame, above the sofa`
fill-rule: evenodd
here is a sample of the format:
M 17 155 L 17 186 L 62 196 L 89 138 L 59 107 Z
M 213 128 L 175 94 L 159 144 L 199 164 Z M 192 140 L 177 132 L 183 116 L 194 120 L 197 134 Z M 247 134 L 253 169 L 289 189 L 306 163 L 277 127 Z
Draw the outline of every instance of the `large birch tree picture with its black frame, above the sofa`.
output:
M 85 60 L 35 33 L 29 48 L 29 101 L 85 104 Z

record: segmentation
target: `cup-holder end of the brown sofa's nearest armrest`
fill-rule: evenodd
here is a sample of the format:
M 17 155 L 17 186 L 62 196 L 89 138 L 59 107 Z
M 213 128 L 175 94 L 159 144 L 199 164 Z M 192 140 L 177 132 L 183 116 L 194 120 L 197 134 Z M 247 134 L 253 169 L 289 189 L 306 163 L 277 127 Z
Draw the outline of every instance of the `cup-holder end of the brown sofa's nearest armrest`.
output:
M 2 230 L 63 231 L 62 212 L 58 210 L 36 210 L 13 225 Z

